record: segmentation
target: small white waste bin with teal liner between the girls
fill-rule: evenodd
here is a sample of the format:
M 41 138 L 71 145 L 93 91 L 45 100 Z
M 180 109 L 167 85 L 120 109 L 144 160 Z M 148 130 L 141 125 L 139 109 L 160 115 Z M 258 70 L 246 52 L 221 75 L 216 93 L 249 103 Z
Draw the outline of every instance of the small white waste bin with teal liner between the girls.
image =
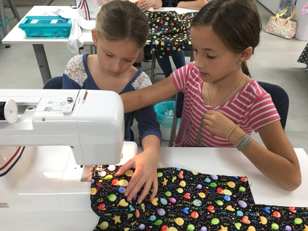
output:
M 166 101 L 157 103 L 154 105 L 154 110 L 156 112 L 156 119 L 160 124 L 160 132 L 163 140 L 169 140 L 173 115 L 164 115 L 166 109 L 172 110 L 174 113 L 175 101 Z M 181 119 L 177 120 L 176 129 L 180 126 Z

